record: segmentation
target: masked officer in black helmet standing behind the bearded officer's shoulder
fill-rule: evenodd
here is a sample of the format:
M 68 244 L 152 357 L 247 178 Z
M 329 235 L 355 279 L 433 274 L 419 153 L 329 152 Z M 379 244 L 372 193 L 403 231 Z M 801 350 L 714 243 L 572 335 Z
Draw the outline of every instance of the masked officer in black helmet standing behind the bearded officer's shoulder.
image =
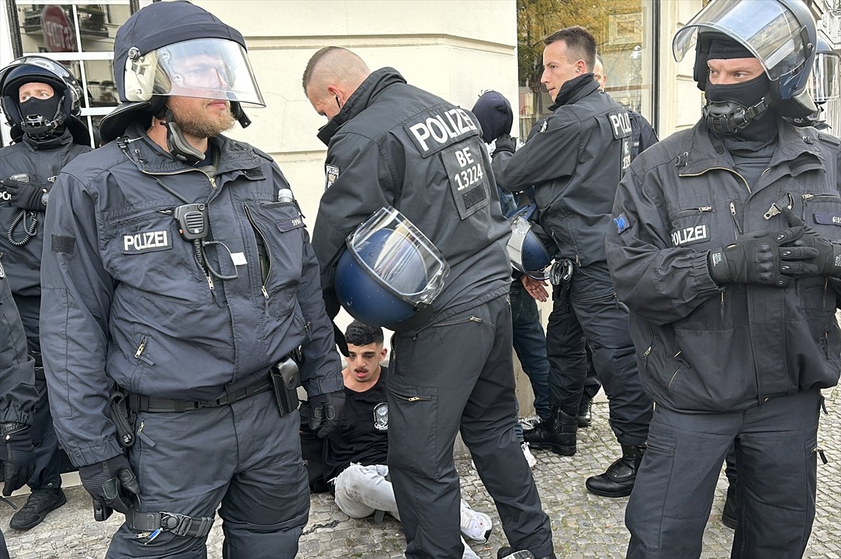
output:
M 81 92 L 65 66 L 44 56 L 24 56 L 0 70 L 0 104 L 15 140 L 0 149 L 0 253 L 6 255 L 8 284 L 34 357 L 39 393 L 31 424 L 36 452 L 36 467 L 28 481 L 32 493 L 9 521 L 15 530 L 29 530 L 66 503 L 61 451 L 41 363 L 40 262 L 45 212 L 56 175 L 73 158 L 91 150 L 87 128 L 77 118 Z

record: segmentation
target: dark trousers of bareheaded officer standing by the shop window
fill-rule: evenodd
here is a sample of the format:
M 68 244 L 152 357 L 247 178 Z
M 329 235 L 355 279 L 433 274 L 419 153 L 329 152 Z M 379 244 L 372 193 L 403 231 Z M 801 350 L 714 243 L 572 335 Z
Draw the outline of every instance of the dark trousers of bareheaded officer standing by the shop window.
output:
M 645 444 L 653 404 L 639 380 L 628 311 L 616 298 L 607 263 L 575 266 L 569 300 L 558 294 L 556 287 L 546 330 L 553 405 L 565 414 L 578 414 L 587 377 L 586 340 L 610 403 L 616 439 L 625 445 Z

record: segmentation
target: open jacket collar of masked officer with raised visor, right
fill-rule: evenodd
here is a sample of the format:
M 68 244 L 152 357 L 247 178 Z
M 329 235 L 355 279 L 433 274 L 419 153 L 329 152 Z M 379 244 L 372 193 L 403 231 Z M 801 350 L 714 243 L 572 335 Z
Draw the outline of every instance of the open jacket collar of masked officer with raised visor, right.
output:
M 785 162 L 791 163 L 800 158 L 805 158 L 806 161 L 803 163 L 812 160 L 816 165 L 821 164 L 822 156 L 816 145 L 818 140 L 808 136 L 805 130 L 777 118 L 777 149 L 774 156 L 771 156 L 769 167 Z M 682 147 L 674 163 L 679 167 L 679 176 L 701 175 L 716 168 L 733 169 L 733 160 L 727 153 L 724 143 L 710 132 L 704 119 L 696 123 L 692 134 Z M 797 166 L 798 173 L 804 170 L 805 167 L 802 164 Z

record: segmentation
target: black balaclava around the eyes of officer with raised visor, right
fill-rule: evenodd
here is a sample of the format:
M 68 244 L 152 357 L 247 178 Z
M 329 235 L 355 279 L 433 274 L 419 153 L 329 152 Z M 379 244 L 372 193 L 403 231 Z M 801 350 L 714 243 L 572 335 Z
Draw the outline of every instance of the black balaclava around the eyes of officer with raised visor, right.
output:
M 711 41 L 707 60 L 733 58 L 755 56 L 743 45 L 729 38 L 716 38 Z M 770 82 L 764 71 L 753 80 L 742 83 L 718 85 L 707 80 L 704 92 L 704 117 L 714 133 L 725 137 L 732 136 L 737 140 L 759 141 L 761 144 L 767 144 L 774 139 L 776 113 L 768 109 L 771 102 Z M 738 121 L 740 117 L 744 122 L 733 125 L 733 119 Z

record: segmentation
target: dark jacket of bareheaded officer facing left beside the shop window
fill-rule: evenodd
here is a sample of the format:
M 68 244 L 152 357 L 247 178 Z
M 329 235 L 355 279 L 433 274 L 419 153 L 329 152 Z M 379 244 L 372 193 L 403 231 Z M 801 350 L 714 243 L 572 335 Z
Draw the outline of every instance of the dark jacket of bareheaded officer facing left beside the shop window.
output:
M 558 256 L 588 266 L 605 260 L 616 185 L 631 163 L 631 121 L 592 73 L 564 83 L 550 109 L 526 144 L 500 159 L 496 180 L 511 192 L 534 185 L 539 223 Z

